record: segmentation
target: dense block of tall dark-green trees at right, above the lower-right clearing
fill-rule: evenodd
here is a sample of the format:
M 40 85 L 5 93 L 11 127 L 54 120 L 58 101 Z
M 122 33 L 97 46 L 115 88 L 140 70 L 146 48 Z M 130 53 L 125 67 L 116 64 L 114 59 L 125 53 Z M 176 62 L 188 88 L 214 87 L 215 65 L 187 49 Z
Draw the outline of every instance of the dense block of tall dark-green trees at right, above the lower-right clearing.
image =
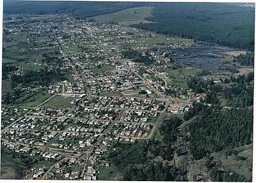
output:
M 205 157 L 207 152 L 252 143 L 252 108 L 226 111 L 206 108 L 189 126 L 189 131 L 191 154 L 195 159 Z

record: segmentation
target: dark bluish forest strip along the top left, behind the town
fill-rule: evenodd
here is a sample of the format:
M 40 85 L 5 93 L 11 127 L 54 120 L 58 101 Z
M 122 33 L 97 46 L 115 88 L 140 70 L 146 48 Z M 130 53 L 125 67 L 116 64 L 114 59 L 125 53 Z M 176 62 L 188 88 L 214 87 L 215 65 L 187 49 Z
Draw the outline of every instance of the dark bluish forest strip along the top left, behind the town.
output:
M 68 1 L 19 1 L 4 0 L 4 15 L 46 15 L 67 13 L 79 18 L 93 17 L 105 13 L 141 6 L 141 3 L 126 2 L 68 2 Z

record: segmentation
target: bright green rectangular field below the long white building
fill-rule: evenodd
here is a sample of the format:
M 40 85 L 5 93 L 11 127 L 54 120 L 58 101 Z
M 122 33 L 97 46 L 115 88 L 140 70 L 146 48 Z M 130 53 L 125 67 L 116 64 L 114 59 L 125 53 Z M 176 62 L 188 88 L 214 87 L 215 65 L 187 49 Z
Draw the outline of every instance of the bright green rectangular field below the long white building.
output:
M 54 96 L 50 101 L 45 103 L 44 106 L 49 106 L 49 107 L 70 107 L 72 106 L 72 101 L 74 100 L 74 97 L 70 96 Z

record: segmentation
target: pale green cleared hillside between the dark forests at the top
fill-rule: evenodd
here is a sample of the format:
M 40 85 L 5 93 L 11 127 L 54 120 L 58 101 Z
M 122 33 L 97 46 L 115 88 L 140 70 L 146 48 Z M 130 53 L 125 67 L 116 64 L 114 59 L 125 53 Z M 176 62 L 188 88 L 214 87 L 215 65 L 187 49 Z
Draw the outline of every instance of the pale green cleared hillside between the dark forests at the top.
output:
M 152 16 L 152 10 L 153 7 L 150 6 L 129 8 L 122 11 L 117 11 L 115 13 L 99 15 L 93 17 L 93 19 L 99 22 L 118 22 L 119 24 L 123 25 L 137 24 L 140 22 L 147 23 L 149 21 L 145 20 L 145 18 Z

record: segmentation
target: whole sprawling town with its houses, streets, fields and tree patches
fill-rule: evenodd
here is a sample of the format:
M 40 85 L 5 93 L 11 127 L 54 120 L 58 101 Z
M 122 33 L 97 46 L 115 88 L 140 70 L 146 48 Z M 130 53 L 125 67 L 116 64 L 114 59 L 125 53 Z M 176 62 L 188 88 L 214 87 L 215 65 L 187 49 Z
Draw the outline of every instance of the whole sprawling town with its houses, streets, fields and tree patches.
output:
M 102 180 L 113 145 L 150 140 L 164 118 L 211 106 L 191 78 L 230 77 L 173 59 L 196 41 L 93 18 L 8 15 L 3 35 L 1 150 L 36 159 L 23 179 Z

